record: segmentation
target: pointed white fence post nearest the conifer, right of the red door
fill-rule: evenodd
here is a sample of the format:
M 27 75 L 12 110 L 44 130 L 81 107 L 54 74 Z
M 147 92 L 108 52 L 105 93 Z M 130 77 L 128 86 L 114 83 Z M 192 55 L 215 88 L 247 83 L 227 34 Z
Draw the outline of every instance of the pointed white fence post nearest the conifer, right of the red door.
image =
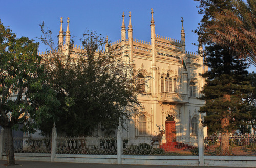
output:
M 199 114 L 199 124 L 198 124 L 198 156 L 199 156 L 199 166 L 204 166 L 204 131 L 203 131 L 201 114 Z

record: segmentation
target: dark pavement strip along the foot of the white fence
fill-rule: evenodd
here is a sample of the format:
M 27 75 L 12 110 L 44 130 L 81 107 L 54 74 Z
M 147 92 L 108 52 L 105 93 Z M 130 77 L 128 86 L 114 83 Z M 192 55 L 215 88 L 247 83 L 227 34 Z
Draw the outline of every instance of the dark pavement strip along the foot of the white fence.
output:
M 0 160 L 0 167 L 8 167 L 6 160 Z M 199 168 L 194 166 L 157 166 L 157 165 L 117 165 L 117 164 L 87 164 L 87 163 L 60 163 L 60 162 L 39 162 L 39 161 L 16 161 L 13 168 Z M 202 168 L 202 167 L 200 167 Z M 217 167 L 206 167 L 217 168 Z M 223 168 L 223 167 L 218 167 Z

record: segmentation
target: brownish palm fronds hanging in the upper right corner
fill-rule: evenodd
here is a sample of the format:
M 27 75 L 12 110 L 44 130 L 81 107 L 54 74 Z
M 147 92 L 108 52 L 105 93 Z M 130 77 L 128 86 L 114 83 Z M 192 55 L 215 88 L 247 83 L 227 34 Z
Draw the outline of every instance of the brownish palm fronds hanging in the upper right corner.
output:
M 214 23 L 206 27 L 212 42 L 232 49 L 239 58 L 256 66 L 256 0 L 234 0 L 233 8 L 214 14 Z

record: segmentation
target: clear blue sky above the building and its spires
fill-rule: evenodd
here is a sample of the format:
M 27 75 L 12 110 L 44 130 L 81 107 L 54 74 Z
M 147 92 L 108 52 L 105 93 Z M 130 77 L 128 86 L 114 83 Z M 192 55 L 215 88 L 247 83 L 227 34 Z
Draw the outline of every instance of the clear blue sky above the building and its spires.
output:
M 60 17 L 63 17 L 63 31 L 67 29 L 67 17 L 70 18 L 70 34 L 75 44 L 87 31 L 96 31 L 102 37 L 108 36 L 112 42 L 121 39 L 122 13 L 124 12 L 126 30 L 129 25 L 129 11 L 133 26 L 133 38 L 150 42 L 151 8 L 154 10 L 155 33 L 161 36 L 181 40 L 181 17 L 185 29 L 186 50 L 197 52 L 197 29 L 202 15 L 198 14 L 199 5 L 194 0 L 0 0 L 0 20 L 10 26 L 17 37 L 29 37 L 40 42 L 42 35 L 39 24 L 52 31 L 57 44 L 60 29 Z M 126 31 L 127 38 L 127 31 Z M 45 51 L 44 44 L 39 51 Z M 255 71 L 249 67 L 249 71 Z

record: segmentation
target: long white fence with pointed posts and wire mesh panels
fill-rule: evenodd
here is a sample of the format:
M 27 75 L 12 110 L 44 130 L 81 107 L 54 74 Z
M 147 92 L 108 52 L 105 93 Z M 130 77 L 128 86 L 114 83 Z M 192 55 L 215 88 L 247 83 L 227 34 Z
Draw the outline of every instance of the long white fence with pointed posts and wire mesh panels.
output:
M 152 144 L 152 137 L 123 138 L 119 124 L 117 137 L 14 138 L 16 160 L 52 162 L 148 164 L 179 166 L 255 167 L 256 136 L 229 137 L 229 152 L 223 156 L 219 136 L 203 138 L 199 123 L 198 136 L 177 137 L 176 142 L 162 138 Z M 195 138 L 197 137 L 197 138 Z M 187 142 L 190 142 L 189 144 Z M 0 159 L 6 159 L 3 131 L 0 134 Z

